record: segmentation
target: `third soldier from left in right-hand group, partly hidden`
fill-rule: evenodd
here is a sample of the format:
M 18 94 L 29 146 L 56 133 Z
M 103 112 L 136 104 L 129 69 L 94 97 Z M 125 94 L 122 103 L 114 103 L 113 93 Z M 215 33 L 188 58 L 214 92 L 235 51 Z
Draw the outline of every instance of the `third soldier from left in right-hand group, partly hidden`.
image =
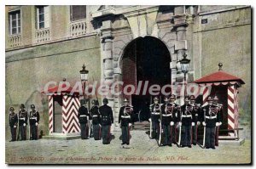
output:
M 176 96 L 172 94 L 170 97 L 170 104 L 172 104 L 173 110 L 172 110 L 172 120 L 174 122 L 174 125 L 172 126 L 172 143 L 177 143 L 177 115 L 180 111 L 180 106 L 175 103 Z

